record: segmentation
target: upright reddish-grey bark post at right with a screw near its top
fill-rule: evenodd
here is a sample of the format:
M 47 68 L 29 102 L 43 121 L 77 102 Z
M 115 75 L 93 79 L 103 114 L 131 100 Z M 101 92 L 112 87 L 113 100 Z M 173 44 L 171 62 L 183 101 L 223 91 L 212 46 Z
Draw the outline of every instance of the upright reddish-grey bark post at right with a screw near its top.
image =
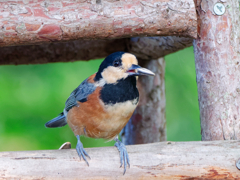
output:
M 239 1 L 197 2 L 198 39 L 194 42 L 202 140 L 240 139 Z

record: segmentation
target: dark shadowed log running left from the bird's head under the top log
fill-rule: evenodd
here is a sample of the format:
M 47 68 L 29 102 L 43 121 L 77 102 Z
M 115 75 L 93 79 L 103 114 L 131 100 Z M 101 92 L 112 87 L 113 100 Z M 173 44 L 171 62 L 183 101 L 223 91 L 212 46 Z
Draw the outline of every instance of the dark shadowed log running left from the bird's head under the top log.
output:
M 0 48 L 0 64 L 42 64 L 103 58 L 126 50 L 126 39 L 75 40 Z

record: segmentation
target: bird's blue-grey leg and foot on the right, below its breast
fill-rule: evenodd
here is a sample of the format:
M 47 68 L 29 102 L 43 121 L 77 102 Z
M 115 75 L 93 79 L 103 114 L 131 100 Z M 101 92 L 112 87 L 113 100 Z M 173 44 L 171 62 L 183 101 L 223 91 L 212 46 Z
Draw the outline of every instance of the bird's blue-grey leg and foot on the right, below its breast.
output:
M 118 136 L 114 140 L 116 141 L 114 146 L 118 148 L 118 151 L 120 153 L 120 163 L 121 163 L 120 167 L 122 167 L 122 165 L 124 166 L 123 174 L 125 174 L 127 164 L 130 167 L 130 161 L 129 161 L 127 149 L 126 149 L 126 146 L 121 141 L 119 141 Z

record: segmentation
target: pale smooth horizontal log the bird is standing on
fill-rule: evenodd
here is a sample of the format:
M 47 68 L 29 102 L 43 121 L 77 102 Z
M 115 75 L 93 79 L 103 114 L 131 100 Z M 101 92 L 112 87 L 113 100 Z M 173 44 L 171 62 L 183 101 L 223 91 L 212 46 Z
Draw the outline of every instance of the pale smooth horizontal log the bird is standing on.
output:
M 88 167 L 72 150 L 0 153 L 3 179 L 238 179 L 239 141 L 162 142 L 127 146 L 123 176 L 116 147 L 86 149 Z

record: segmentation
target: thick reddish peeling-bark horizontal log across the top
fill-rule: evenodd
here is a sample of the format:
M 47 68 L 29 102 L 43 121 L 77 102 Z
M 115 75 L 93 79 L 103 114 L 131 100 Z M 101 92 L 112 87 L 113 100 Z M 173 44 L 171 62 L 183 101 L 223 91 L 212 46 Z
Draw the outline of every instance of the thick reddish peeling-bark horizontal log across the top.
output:
M 192 0 L 0 2 L 0 46 L 76 39 L 181 35 L 196 38 Z

